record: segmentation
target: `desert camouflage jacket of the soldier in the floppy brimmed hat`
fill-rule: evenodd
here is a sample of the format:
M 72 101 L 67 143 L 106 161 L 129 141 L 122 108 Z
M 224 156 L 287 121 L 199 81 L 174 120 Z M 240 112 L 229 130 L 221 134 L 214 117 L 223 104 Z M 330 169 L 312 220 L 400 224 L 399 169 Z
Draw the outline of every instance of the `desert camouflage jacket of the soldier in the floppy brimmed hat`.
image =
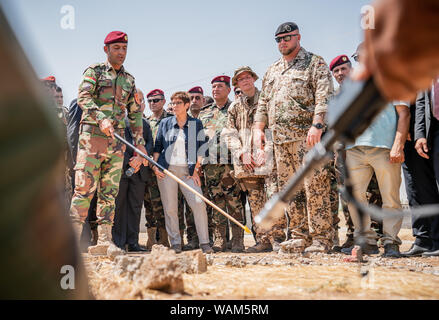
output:
M 254 154 L 256 149 L 253 147 L 252 126 L 254 116 L 258 107 L 259 90 L 256 89 L 253 99 L 241 95 L 229 107 L 227 125 L 224 130 L 227 146 L 232 153 L 234 176 L 236 178 L 264 177 L 267 175 L 266 166 L 256 167 L 254 172 L 248 171 L 242 161 L 241 155 L 245 152 Z M 269 140 L 269 139 L 267 139 Z M 265 152 L 267 155 L 272 153 L 272 143 L 267 141 Z M 268 162 L 266 162 L 269 165 Z

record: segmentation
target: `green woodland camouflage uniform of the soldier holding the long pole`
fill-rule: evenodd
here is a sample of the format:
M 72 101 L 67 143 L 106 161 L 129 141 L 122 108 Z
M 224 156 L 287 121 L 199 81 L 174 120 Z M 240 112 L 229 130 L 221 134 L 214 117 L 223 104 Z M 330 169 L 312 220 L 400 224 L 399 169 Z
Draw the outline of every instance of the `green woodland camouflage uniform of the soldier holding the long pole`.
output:
M 123 67 L 116 72 L 106 62 L 92 65 L 84 72 L 78 94 L 83 114 L 75 166 L 75 193 L 70 208 L 75 221 L 85 221 L 97 189 L 98 223 L 113 222 L 125 145 L 102 133 L 98 123 L 112 120 L 115 132 L 123 136 L 127 110 L 134 142 L 144 145 L 142 114 L 135 102 L 135 93 L 134 77 Z

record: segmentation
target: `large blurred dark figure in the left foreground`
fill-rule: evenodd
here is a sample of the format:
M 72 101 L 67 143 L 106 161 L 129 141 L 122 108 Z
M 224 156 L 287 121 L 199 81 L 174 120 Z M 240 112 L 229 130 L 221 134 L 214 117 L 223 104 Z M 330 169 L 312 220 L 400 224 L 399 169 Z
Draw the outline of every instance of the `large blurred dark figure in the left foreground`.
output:
M 1 9 L 0 41 L 0 298 L 88 299 L 64 204 L 61 128 Z

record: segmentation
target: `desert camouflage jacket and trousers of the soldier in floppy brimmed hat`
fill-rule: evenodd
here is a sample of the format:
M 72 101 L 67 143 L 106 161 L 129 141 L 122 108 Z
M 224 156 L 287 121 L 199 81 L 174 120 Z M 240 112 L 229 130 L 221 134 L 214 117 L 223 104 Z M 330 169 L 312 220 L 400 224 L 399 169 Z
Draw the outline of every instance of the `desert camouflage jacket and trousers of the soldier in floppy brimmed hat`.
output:
M 271 243 L 270 232 L 260 228 L 254 222 L 254 217 L 264 207 L 265 196 L 265 177 L 272 171 L 272 162 L 267 161 L 262 167 L 256 167 L 254 172 L 248 171 L 241 161 L 241 155 L 245 152 L 255 155 L 256 148 L 252 143 L 252 126 L 259 99 L 259 90 L 256 89 L 255 96 L 248 98 L 241 95 L 235 100 L 228 110 L 227 125 L 224 134 L 227 137 L 227 145 L 232 153 L 234 176 L 239 179 L 243 189 L 248 192 L 248 202 L 252 214 L 252 225 L 255 231 L 257 243 Z M 272 144 L 267 144 L 266 154 L 273 152 Z M 272 160 L 272 159 L 271 159 Z

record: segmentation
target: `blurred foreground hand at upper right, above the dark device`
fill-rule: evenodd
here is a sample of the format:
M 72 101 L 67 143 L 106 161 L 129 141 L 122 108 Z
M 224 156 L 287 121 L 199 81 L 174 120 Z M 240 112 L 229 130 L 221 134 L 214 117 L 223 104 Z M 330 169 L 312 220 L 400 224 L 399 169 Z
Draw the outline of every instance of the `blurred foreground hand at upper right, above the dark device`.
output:
M 375 78 L 389 100 L 414 101 L 439 75 L 439 1 L 378 0 L 374 27 L 366 30 L 366 68 L 354 78 Z

